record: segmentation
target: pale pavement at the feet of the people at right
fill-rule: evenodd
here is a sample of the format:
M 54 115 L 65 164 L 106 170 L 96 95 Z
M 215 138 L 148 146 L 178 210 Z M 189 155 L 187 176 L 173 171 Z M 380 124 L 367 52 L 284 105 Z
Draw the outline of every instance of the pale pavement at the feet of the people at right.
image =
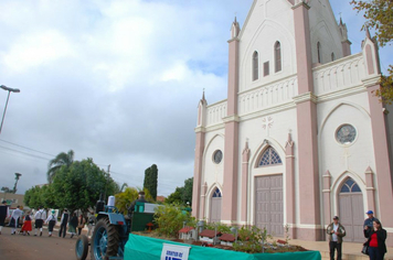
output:
M 304 241 L 291 239 L 290 245 L 301 246 L 308 250 L 320 251 L 322 259 L 329 259 L 329 245 L 328 241 Z M 350 260 L 369 260 L 369 256 L 361 253 L 363 245 L 359 242 L 343 242 L 342 243 L 342 259 Z M 386 260 L 393 260 L 393 248 L 387 248 L 385 254 Z

